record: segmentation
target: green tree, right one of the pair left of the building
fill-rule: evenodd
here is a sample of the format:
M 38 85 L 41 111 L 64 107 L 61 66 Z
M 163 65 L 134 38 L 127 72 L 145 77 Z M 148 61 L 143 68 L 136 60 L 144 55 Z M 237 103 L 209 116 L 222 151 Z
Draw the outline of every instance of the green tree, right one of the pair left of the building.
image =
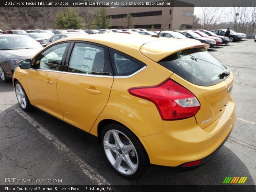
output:
M 66 28 L 77 29 L 84 27 L 83 18 L 79 16 L 75 9 L 68 8 L 68 11 L 65 12 L 65 15 Z

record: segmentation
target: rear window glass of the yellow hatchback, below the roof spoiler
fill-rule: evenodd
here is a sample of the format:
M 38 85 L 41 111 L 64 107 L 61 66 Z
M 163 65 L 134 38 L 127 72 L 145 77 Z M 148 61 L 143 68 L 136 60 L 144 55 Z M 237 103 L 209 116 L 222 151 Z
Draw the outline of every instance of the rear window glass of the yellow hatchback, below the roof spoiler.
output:
M 158 63 L 196 85 L 211 86 L 227 78 L 220 76 L 227 67 L 204 48 L 179 51 Z

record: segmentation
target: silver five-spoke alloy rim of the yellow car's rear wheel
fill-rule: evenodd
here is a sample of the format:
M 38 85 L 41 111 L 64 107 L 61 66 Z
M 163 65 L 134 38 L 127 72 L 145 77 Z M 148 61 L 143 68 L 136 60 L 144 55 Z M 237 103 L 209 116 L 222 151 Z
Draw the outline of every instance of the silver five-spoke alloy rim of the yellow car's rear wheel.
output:
M 108 161 L 116 171 L 132 175 L 139 165 L 137 151 L 131 140 L 118 130 L 109 130 L 104 135 L 103 147 Z

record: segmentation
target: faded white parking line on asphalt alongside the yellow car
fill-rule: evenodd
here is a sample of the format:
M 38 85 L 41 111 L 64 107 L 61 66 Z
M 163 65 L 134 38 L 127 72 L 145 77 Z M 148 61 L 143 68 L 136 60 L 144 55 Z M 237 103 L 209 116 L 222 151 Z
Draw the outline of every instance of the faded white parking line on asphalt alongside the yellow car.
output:
M 28 123 L 35 127 L 38 132 L 44 135 L 46 139 L 50 140 L 56 148 L 65 152 L 65 154 L 67 154 L 70 159 L 76 162 L 88 178 L 95 181 L 97 185 L 110 185 L 110 183 L 106 179 L 104 179 L 103 176 L 101 176 L 90 165 L 88 165 L 81 158 L 79 158 L 73 151 L 71 151 L 64 143 L 62 143 L 57 137 L 55 137 L 52 133 L 45 129 L 41 124 L 37 123 L 34 118 L 28 116 L 27 113 L 22 111 L 20 108 L 15 108 L 14 110 L 19 113 L 20 116 L 22 116 L 24 119 L 26 119 Z

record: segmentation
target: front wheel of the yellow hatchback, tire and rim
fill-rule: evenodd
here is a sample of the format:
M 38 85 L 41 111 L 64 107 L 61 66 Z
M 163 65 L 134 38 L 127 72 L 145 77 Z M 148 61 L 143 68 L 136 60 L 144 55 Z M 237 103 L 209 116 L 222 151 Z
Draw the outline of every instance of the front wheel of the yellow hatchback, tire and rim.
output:
M 27 96 L 26 92 L 24 91 L 24 89 L 21 86 L 19 81 L 15 82 L 15 93 L 16 93 L 16 97 L 18 99 L 18 102 L 20 104 L 20 107 L 24 111 L 31 110 L 32 109 L 32 105 L 30 104 L 30 102 L 28 100 L 28 96 Z

